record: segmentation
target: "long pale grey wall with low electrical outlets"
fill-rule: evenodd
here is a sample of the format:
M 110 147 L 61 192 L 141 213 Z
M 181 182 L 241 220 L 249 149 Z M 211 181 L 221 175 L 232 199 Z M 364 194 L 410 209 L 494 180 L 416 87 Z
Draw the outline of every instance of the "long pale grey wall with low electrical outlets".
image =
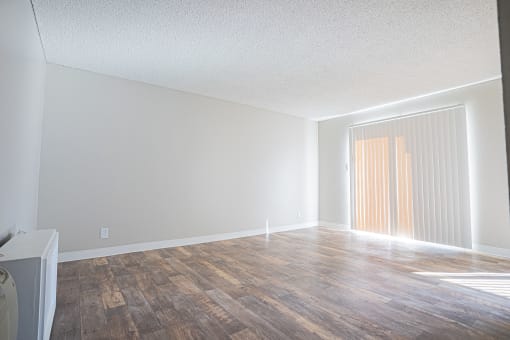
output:
M 62 251 L 315 221 L 317 165 L 316 122 L 48 65 L 39 225 Z

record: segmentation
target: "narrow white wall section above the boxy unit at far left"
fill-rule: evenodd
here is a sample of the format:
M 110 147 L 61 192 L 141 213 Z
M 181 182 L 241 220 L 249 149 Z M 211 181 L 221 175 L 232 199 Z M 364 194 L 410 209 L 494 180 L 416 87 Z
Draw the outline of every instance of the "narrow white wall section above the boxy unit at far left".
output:
M 30 1 L 0 1 L 0 240 L 36 225 L 45 68 Z

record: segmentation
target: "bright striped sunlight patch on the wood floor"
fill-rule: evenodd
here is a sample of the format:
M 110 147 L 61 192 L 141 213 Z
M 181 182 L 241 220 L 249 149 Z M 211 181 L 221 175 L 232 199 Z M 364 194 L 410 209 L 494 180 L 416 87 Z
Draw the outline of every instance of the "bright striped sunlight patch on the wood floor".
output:
M 438 273 L 415 272 L 415 274 L 437 277 L 441 281 L 481 290 L 486 293 L 510 298 L 510 273 Z

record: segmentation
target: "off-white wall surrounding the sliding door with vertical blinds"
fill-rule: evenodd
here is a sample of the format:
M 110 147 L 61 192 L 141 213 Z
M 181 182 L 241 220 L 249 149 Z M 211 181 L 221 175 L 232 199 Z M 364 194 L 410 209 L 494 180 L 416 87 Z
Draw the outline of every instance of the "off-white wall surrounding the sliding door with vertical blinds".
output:
M 501 80 L 319 123 L 319 216 L 350 224 L 349 126 L 464 104 L 469 140 L 471 218 L 475 248 L 510 249 L 508 178 Z

